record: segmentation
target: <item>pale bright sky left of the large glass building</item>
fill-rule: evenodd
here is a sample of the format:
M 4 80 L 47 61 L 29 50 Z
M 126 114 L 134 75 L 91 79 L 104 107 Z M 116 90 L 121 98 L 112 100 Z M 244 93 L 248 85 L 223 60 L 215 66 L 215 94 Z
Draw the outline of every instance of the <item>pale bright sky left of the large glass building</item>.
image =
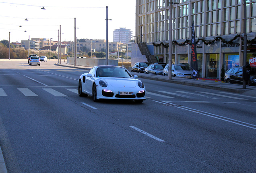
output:
M 9 32 L 10 42 L 58 41 L 58 30 L 61 41 L 74 41 L 74 18 L 77 39 L 106 39 L 106 6 L 112 19 L 108 20 L 109 42 L 119 28 L 130 29 L 134 36 L 136 0 L 0 0 L 0 41 L 9 40 Z

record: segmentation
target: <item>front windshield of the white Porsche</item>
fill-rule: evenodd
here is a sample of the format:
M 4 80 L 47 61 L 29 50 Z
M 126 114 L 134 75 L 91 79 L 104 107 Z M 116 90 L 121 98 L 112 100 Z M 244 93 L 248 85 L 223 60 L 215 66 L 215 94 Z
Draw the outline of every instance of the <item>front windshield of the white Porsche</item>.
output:
M 132 78 L 132 75 L 125 68 L 100 67 L 97 68 L 96 77 Z

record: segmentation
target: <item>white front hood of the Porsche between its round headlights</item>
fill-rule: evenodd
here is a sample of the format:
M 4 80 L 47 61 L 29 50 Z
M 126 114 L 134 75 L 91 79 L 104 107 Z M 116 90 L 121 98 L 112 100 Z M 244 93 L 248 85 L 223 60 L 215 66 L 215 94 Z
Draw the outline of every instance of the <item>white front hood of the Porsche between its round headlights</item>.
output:
M 112 87 L 136 87 L 137 80 L 133 78 L 104 78 Z

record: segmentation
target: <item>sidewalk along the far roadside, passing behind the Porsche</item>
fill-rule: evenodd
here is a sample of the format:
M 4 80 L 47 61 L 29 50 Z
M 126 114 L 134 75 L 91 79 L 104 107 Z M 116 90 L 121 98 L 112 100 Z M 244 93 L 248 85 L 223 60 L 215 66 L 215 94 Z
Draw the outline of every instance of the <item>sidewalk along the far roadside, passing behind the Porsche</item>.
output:
M 75 66 L 72 64 L 67 64 L 66 62 L 62 62 L 62 64 L 55 64 L 59 66 L 66 66 L 71 68 L 80 68 L 85 70 L 90 70 L 91 67 L 87 66 Z M 138 78 L 145 78 L 151 80 L 158 80 L 163 82 L 171 82 L 175 84 L 183 84 L 194 87 L 202 87 L 206 89 L 215 89 L 219 91 L 228 91 L 232 93 L 244 94 L 252 97 L 256 97 L 256 86 L 246 86 L 246 89 L 243 89 L 242 84 L 228 84 L 225 82 L 221 82 L 219 80 L 207 80 L 200 78 L 199 80 L 189 79 L 189 78 L 175 78 L 169 79 L 168 76 L 160 76 L 155 74 L 145 74 L 145 73 L 137 73 L 131 72 L 132 75 L 136 74 Z

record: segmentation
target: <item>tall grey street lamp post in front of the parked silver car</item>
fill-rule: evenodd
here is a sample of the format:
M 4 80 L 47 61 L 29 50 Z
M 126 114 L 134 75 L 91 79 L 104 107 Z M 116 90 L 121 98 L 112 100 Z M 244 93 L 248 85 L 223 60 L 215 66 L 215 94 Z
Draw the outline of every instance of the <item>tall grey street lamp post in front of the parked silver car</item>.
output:
M 178 2 L 169 2 L 169 58 L 168 58 L 168 76 L 171 79 L 171 65 L 172 65 L 172 4 L 179 4 Z

